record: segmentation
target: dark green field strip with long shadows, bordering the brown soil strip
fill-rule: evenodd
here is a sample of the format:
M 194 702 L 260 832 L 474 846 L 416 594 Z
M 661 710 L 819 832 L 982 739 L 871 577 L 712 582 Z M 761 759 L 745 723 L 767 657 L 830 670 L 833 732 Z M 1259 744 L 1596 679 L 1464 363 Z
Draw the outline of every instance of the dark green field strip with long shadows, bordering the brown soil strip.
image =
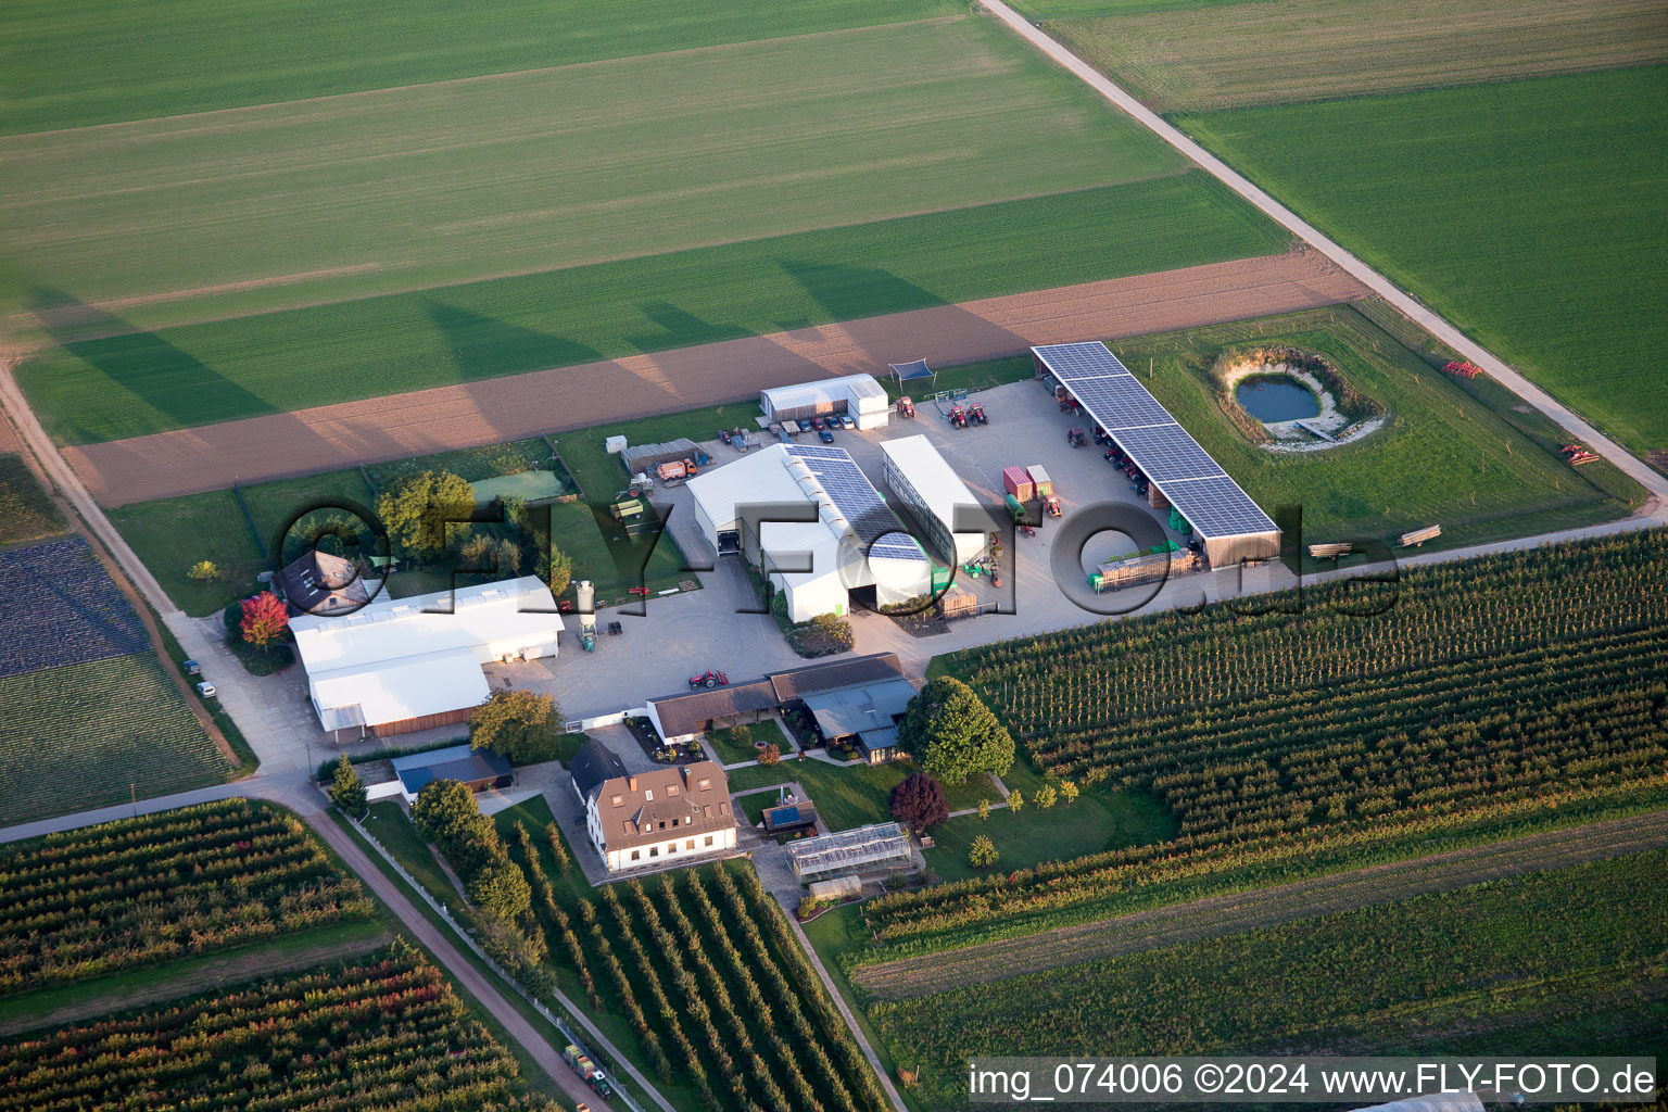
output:
M 1279 253 L 1203 172 L 115 335 L 18 367 L 65 442 Z M 567 428 L 560 410 L 552 430 Z

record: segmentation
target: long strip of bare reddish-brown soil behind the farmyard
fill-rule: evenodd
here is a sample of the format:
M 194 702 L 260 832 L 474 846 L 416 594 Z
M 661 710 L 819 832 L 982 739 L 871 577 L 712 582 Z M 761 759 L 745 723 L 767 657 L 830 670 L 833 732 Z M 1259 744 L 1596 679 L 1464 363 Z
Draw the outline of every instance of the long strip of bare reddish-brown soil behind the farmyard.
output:
M 761 388 L 926 358 L 1266 317 L 1363 295 L 1309 250 L 942 305 L 455 387 L 68 447 L 105 507 L 289 478 L 622 418 L 739 402 Z

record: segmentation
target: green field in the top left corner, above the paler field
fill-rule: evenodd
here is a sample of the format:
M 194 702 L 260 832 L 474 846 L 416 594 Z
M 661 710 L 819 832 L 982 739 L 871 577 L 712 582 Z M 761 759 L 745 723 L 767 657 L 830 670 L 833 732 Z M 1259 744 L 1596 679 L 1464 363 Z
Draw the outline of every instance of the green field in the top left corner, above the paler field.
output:
M 417 85 L 916 20 L 944 0 L 18 0 L 0 13 L 0 133 Z M 375 43 L 375 48 L 367 45 Z

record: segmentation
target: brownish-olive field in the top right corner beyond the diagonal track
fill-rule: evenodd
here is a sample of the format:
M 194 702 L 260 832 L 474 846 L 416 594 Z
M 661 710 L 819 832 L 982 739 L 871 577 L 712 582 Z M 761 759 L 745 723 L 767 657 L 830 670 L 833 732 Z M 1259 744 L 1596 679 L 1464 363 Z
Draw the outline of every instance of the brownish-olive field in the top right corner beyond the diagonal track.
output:
M 1331 100 L 1668 60 L 1661 0 L 1042 3 L 1044 28 L 1159 112 Z M 1271 63 L 1279 58 L 1279 63 Z

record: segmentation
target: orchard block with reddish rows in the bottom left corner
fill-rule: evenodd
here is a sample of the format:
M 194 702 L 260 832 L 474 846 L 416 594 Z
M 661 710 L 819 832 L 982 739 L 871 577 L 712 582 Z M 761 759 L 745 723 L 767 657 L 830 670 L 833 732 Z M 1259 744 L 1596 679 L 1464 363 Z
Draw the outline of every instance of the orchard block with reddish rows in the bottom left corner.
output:
M 70 1024 L 0 1047 L 0 1112 L 557 1112 L 420 954 Z

